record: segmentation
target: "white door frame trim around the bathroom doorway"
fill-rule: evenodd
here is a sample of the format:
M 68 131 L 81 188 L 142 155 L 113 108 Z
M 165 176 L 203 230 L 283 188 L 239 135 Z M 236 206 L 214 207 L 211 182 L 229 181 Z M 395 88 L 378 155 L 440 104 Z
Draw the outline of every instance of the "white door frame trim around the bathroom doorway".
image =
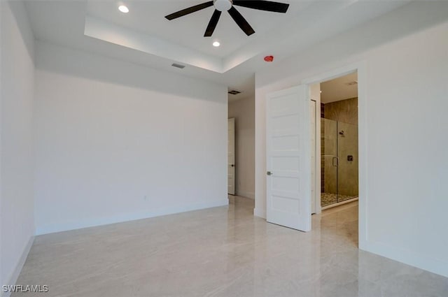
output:
M 342 66 L 340 68 L 335 68 L 332 71 L 327 71 L 314 75 L 310 78 L 306 78 L 300 82 L 300 85 L 307 85 L 308 98 L 310 98 L 309 88 L 311 85 L 316 83 L 324 82 L 327 80 L 332 80 L 333 78 L 338 78 L 340 76 L 347 75 L 358 71 L 358 183 L 359 183 L 359 193 L 358 193 L 358 247 L 360 249 L 366 248 L 367 242 L 367 63 L 366 61 L 358 61 L 353 64 Z M 316 101 L 320 106 L 319 102 Z M 317 110 L 317 108 L 316 108 Z M 319 113 L 320 118 L 320 113 Z M 316 120 L 316 131 L 321 131 L 321 122 Z M 316 139 L 316 147 L 320 147 L 321 140 L 320 137 Z M 321 150 L 317 150 L 316 154 L 316 168 L 321 168 Z M 318 157 L 319 156 L 319 157 Z M 317 193 L 320 193 L 320 179 L 318 187 L 316 189 Z M 317 182 L 316 182 L 317 185 Z M 321 212 L 321 203 L 317 203 L 316 213 Z

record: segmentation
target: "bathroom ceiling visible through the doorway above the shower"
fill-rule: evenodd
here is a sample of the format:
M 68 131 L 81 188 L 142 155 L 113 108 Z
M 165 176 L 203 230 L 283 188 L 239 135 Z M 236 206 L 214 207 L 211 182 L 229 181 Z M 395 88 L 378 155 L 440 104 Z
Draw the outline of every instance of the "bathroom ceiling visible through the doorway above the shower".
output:
M 356 84 L 353 84 L 356 82 Z M 358 73 L 321 83 L 321 102 L 330 103 L 358 97 Z

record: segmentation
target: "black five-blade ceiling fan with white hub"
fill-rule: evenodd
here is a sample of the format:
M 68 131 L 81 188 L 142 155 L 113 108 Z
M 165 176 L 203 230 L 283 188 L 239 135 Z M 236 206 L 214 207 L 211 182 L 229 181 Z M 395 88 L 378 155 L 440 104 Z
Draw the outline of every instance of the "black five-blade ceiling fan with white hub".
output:
M 246 33 L 247 36 L 254 34 L 255 31 L 253 31 L 251 25 L 248 24 L 246 19 L 241 15 L 241 13 L 239 13 L 234 5 L 258 10 L 272 11 L 274 13 L 286 13 L 289 7 L 289 4 L 287 3 L 279 3 L 273 1 L 214 0 L 191 6 L 183 10 L 179 10 L 176 13 L 165 16 L 165 18 L 167 18 L 167 20 L 174 20 L 178 17 L 183 17 L 184 15 L 195 13 L 198 10 L 202 10 L 210 6 L 215 6 L 215 11 L 213 15 L 211 15 L 211 19 L 207 26 L 207 29 L 205 30 L 204 37 L 210 37 L 213 34 L 216 25 L 218 24 L 219 17 L 221 17 L 221 13 L 223 11 L 228 11 L 232 19 L 235 20 L 237 25 L 241 28 L 241 30 L 244 31 L 244 33 Z

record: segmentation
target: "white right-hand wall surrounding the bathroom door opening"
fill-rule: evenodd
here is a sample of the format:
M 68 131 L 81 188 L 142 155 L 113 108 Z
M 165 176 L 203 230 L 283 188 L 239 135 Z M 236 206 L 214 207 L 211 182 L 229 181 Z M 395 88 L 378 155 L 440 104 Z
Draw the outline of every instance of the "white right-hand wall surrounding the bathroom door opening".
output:
M 360 248 L 448 276 L 447 15 L 446 2 L 412 4 L 256 73 L 255 215 L 265 217 L 265 94 L 364 61 Z

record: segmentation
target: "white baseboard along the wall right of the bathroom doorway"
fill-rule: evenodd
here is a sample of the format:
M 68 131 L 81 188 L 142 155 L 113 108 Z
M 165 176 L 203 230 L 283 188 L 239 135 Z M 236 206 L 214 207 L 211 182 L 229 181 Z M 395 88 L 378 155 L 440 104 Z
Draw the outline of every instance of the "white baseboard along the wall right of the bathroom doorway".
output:
M 447 261 L 434 259 L 430 256 L 412 252 L 407 249 L 391 247 L 390 245 L 386 245 L 381 242 L 372 242 L 370 240 L 364 241 L 362 246 L 360 245 L 359 248 L 373 254 L 378 254 L 379 256 L 384 256 L 394 261 L 405 263 L 409 266 L 414 266 L 437 275 L 448 277 Z

